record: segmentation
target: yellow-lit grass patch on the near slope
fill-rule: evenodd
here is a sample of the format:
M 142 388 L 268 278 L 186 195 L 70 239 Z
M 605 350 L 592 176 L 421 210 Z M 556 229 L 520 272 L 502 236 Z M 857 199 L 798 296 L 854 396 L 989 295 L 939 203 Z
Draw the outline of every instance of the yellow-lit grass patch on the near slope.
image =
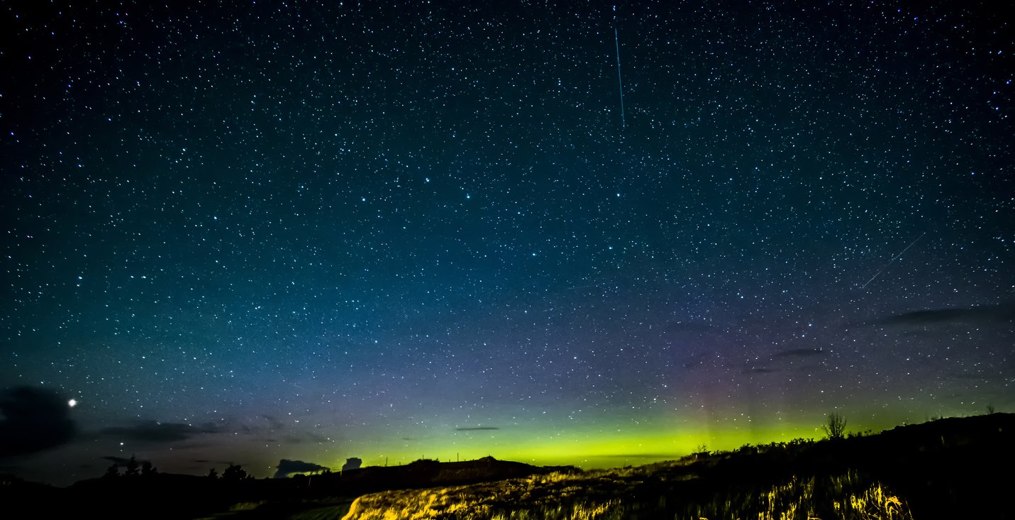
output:
M 358 498 L 343 520 L 911 518 L 902 499 L 857 472 L 791 477 L 768 485 L 732 484 L 707 492 L 694 478 L 680 478 L 671 472 L 674 467 L 551 473 L 492 483 L 377 493 Z

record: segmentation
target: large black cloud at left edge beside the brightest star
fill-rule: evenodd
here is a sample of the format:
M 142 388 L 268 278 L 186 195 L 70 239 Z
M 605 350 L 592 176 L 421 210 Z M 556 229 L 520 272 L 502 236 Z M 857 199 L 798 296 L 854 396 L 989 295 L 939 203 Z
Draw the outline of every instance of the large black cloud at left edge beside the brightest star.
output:
M 26 455 L 69 443 L 77 433 L 67 399 L 30 386 L 0 393 L 0 458 Z

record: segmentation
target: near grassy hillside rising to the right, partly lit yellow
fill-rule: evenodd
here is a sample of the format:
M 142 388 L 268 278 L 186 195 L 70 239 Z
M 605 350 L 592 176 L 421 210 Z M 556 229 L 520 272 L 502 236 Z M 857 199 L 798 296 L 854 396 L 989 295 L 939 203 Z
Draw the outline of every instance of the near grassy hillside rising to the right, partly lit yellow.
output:
M 947 418 L 836 441 L 359 497 L 345 520 L 1006 518 L 1015 415 Z M 1007 482 L 1007 483 L 1006 483 Z

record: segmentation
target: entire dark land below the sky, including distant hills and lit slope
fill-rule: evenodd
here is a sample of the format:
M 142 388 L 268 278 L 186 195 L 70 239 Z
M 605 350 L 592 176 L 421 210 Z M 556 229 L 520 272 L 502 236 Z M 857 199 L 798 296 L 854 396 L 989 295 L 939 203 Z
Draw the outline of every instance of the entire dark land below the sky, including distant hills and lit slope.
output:
M 486 458 L 286 479 L 8 479 L 0 500 L 41 518 L 1004 519 L 1015 518 L 1013 433 L 1015 415 L 995 413 L 601 471 Z

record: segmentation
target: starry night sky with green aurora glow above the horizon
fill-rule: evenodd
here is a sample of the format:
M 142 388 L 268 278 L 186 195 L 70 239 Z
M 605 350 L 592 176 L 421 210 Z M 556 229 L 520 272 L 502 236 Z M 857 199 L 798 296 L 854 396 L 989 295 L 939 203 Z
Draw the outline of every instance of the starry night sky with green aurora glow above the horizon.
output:
M 1015 411 L 991 2 L 165 3 L 0 3 L 0 472 Z

